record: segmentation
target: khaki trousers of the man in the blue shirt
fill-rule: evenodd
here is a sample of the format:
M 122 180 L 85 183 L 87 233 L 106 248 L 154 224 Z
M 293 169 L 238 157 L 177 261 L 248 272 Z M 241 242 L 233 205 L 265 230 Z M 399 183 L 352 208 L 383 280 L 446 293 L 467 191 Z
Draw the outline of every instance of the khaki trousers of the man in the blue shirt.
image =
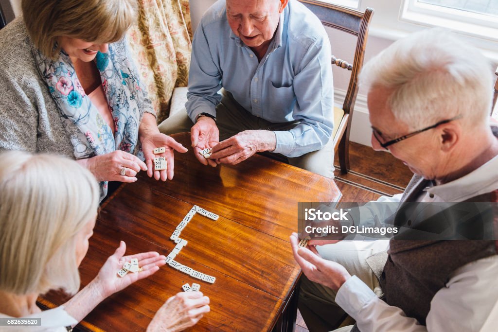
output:
M 223 95 L 222 102 L 216 107 L 216 124 L 220 130 L 220 141 L 232 137 L 244 130 L 290 130 L 299 122 L 273 123 L 260 117 L 254 116 L 239 105 L 233 98 Z M 187 115 L 187 110 L 173 114 L 161 124 L 159 130 L 171 135 L 179 132 L 190 131 L 193 126 L 192 120 Z M 276 157 L 286 161 L 288 164 L 323 175 L 328 178 L 334 177 L 334 146 L 330 139 L 322 149 L 306 153 L 300 157 L 289 158 L 279 153 L 264 152 L 263 155 Z M 276 155 L 276 156 L 275 156 Z

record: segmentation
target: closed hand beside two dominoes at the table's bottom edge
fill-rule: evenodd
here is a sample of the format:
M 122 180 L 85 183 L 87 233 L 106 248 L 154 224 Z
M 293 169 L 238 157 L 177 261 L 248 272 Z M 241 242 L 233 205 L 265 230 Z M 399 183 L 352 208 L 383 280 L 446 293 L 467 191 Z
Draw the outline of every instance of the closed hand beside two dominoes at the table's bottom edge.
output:
M 201 292 L 181 292 L 157 311 L 147 332 L 176 332 L 194 326 L 209 313 L 209 298 Z

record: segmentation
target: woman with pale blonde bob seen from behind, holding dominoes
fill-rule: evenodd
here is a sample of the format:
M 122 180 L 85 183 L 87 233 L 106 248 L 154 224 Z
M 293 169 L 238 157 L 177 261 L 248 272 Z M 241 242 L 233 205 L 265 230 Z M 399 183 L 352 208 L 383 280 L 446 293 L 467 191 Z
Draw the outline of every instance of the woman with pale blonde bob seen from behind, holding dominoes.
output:
M 78 291 L 78 266 L 88 250 L 98 204 L 97 181 L 75 161 L 20 151 L 0 154 L 0 318 L 38 317 L 40 330 L 66 331 L 105 298 L 165 264 L 157 252 L 123 256 L 121 241 L 93 281 L 64 306 L 41 312 L 39 294 Z M 119 277 L 117 271 L 131 258 L 138 259 L 142 271 Z M 193 326 L 209 312 L 208 304 L 201 292 L 179 293 L 159 309 L 148 331 Z

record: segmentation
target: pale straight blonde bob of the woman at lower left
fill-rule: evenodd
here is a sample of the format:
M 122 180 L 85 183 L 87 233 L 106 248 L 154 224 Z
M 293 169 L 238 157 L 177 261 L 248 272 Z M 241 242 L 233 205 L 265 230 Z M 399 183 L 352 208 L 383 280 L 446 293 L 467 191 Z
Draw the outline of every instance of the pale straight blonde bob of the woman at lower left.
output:
M 0 290 L 43 294 L 80 287 L 75 235 L 95 218 L 92 173 L 56 155 L 0 154 Z

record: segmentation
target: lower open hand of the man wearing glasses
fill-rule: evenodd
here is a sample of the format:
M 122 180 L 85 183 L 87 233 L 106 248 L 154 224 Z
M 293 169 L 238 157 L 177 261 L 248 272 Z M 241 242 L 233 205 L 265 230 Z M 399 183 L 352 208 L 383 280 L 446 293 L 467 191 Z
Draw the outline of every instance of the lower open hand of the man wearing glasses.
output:
M 351 277 L 349 272 L 341 264 L 320 257 L 315 246 L 308 246 L 309 249 L 300 248 L 298 243 L 297 234 L 292 233 L 290 244 L 294 259 L 301 266 L 301 270 L 303 270 L 303 273 L 309 280 L 327 286 L 337 292 L 346 280 Z

